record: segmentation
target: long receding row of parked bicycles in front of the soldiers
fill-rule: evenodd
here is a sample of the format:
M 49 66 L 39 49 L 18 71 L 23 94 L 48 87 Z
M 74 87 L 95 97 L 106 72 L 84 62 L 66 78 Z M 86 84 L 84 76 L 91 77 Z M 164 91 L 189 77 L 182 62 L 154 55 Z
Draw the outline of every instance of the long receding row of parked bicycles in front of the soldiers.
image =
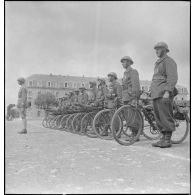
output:
M 86 107 L 85 109 L 55 113 L 47 110 L 42 121 L 46 128 L 64 130 L 91 138 L 115 139 L 121 145 L 135 143 L 140 135 L 149 140 L 158 139 L 158 130 L 151 105 L 122 105 L 119 108 Z M 176 131 L 172 143 L 181 143 L 189 132 L 187 112 L 174 117 Z M 181 116 L 182 115 L 182 116 Z M 177 116 L 177 115 L 175 115 Z

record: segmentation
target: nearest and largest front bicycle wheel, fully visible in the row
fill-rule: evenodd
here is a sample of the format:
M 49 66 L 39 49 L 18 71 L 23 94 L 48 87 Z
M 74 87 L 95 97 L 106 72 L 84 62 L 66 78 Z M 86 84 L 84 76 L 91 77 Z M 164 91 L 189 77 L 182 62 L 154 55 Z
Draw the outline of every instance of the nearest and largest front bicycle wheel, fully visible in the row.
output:
M 143 126 L 144 121 L 141 112 L 131 105 L 120 107 L 115 112 L 111 121 L 111 130 L 114 139 L 119 144 L 125 146 L 136 142 L 143 131 Z

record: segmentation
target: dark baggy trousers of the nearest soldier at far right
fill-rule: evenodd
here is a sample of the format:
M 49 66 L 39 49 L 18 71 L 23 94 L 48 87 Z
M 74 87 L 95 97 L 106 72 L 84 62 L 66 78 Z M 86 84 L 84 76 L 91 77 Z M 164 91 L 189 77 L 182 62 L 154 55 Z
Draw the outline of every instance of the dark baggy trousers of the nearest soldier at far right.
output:
M 175 131 L 173 118 L 173 98 L 157 98 L 153 100 L 154 117 L 156 125 L 161 132 Z

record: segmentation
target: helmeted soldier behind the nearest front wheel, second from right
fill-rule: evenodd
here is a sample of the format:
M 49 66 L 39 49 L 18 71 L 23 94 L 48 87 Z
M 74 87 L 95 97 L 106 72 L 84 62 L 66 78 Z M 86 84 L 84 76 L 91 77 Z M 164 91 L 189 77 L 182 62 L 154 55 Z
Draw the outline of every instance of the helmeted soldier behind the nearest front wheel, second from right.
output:
M 123 103 L 136 104 L 137 99 L 140 96 L 139 74 L 136 69 L 133 69 L 131 67 L 133 64 L 133 60 L 129 56 L 124 56 L 121 59 L 121 63 L 123 65 L 123 68 L 125 69 L 122 79 Z

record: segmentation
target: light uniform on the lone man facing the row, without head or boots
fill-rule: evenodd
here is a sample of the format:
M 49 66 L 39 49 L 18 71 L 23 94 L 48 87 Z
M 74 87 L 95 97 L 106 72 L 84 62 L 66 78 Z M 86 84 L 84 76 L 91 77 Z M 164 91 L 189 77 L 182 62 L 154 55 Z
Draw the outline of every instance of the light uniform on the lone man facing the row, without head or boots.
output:
M 27 111 L 27 89 L 24 86 L 20 87 L 18 92 L 18 102 L 17 107 L 20 112 L 21 118 L 26 118 L 26 111 Z

